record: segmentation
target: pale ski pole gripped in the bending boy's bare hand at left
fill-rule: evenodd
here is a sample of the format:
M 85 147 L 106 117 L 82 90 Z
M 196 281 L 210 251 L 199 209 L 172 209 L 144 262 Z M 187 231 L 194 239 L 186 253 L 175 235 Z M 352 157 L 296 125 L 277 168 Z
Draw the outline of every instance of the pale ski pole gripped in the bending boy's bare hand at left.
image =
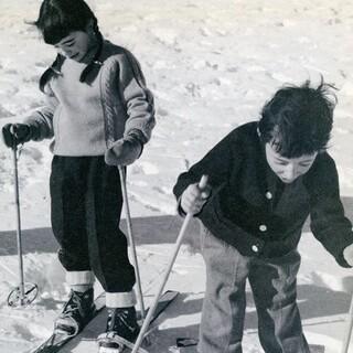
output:
M 206 175 L 202 175 L 202 178 L 200 180 L 200 183 L 199 183 L 199 188 L 202 190 L 202 189 L 204 189 L 206 186 L 206 184 L 207 184 L 207 176 Z M 185 217 L 185 220 L 184 220 L 184 222 L 182 224 L 182 227 L 181 227 L 181 229 L 179 232 L 179 235 L 176 237 L 175 247 L 174 247 L 174 252 L 173 252 L 172 258 L 171 258 L 171 260 L 170 260 L 170 263 L 168 265 L 168 268 L 165 270 L 163 280 L 162 280 L 162 282 L 160 285 L 160 288 L 159 288 L 159 290 L 158 290 L 158 292 L 157 292 L 157 295 L 154 297 L 153 303 L 151 304 L 150 309 L 148 310 L 147 317 L 143 320 L 143 324 L 141 327 L 140 333 L 139 333 L 139 335 L 138 335 L 138 338 L 136 340 L 136 343 L 133 345 L 133 350 L 131 351 L 131 353 L 137 353 L 139 347 L 140 347 L 140 345 L 141 345 L 141 343 L 142 343 L 145 333 L 147 332 L 148 327 L 150 324 L 150 321 L 151 321 L 151 319 L 153 317 L 153 312 L 154 312 L 154 310 L 157 308 L 159 298 L 161 297 L 161 293 L 162 293 L 162 291 L 164 289 L 164 286 L 165 286 L 167 281 L 168 281 L 169 275 L 170 275 L 170 272 L 171 272 L 171 270 L 173 268 L 173 265 L 175 263 L 175 259 L 176 259 L 179 249 L 181 247 L 183 237 L 185 235 L 188 225 L 189 225 L 189 223 L 190 223 L 192 217 L 193 217 L 192 213 L 188 213 L 186 214 L 186 217 Z

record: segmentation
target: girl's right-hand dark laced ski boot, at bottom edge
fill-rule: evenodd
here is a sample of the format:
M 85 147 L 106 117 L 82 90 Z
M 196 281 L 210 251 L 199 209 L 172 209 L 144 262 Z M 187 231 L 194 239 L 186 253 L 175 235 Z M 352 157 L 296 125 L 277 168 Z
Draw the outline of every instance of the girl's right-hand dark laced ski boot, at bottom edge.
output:
M 120 353 L 131 349 L 140 327 L 135 307 L 108 309 L 106 332 L 98 336 L 99 353 Z

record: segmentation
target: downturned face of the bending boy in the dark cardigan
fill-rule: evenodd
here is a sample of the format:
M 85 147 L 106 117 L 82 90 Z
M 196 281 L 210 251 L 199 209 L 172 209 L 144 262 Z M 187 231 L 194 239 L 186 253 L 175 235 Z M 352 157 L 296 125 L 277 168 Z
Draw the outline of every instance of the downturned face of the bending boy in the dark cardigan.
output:
M 304 154 L 297 158 L 285 158 L 276 152 L 271 143 L 266 143 L 265 150 L 267 163 L 286 184 L 290 184 L 298 176 L 307 173 L 318 156 L 318 152 L 314 152 L 313 154 Z

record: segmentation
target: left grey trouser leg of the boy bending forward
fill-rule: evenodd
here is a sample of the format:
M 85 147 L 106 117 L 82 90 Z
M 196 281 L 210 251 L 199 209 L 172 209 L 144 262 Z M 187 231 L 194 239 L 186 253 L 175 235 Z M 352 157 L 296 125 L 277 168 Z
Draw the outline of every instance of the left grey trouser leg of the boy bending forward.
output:
M 206 291 L 200 327 L 200 353 L 242 353 L 249 258 L 202 229 Z

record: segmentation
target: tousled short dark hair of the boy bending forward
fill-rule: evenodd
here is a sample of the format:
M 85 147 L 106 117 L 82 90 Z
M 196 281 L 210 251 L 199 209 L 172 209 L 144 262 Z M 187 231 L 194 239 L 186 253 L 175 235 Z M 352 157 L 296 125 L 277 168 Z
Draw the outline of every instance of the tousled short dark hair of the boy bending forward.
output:
M 317 88 L 307 81 L 301 86 L 285 86 L 266 103 L 258 129 L 261 140 L 270 142 L 286 158 L 325 150 L 331 137 L 336 96 L 323 78 Z

